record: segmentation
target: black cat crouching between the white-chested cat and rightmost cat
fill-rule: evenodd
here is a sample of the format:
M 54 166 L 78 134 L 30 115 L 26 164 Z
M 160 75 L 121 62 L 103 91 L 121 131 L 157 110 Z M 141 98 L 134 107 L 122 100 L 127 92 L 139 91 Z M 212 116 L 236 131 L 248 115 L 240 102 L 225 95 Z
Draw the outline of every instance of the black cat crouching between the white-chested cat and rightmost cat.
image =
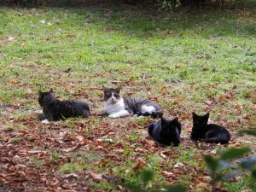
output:
M 164 145 L 177 146 L 180 143 L 181 124 L 177 118 L 166 120 L 161 118 L 158 122 L 148 125 L 148 134 L 156 142 Z

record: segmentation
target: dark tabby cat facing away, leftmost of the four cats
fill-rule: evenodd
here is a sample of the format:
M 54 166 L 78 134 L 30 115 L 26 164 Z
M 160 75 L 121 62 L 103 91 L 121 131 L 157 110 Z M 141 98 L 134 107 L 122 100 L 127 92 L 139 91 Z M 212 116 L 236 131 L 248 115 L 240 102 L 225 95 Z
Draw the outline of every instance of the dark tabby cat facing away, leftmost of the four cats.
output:
M 39 91 L 38 102 L 43 108 L 45 118 L 48 120 L 59 120 L 71 117 L 87 118 L 90 108 L 85 102 L 63 101 L 55 99 L 53 90 L 48 92 Z

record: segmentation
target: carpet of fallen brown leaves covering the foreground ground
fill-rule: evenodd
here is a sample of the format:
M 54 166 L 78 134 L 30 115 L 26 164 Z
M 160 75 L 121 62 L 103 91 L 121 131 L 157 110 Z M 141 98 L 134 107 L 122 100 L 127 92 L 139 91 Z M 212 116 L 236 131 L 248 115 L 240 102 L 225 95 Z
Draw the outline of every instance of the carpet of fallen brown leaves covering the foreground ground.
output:
M 93 86 L 89 89 L 102 90 L 102 87 Z M 152 96 L 151 99 L 157 101 L 160 97 L 167 96 L 167 90 L 165 86 L 161 87 L 160 96 Z M 86 97 L 87 94 L 78 90 L 74 96 Z M 233 95 L 227 93 L 216 99 L 209 98 L 203 103 L 211 109 L 232 98 Z M 173 101 L 183 110 L 181 102 L 184 98 L 174 98 Z M 146 119 L 143 125 L 133 117 L 108 119 L 107 116 L 92 111 L 89 119 L 67 119 L 43 124 L 38 119 L 38 113 L 23 113 L 23 118 L 9 116 L 9 113 L 19 111 L 24 104 L 15 103 L 5 108 L 6 114 L 1 117 L 0 190 L 3 191 L 96 191 L 96 185 L 91 185 L 91 182 L 102 181 L 115 183 L 117 190 L 123 190 L 119 185 L 121 177 L 114 170 L 118 169 L 122 177 L 131 172 L 141 172 L 152 166 L 148 157 L 154 155 L 162 159 L 158 166 L 161 169 L 160 176 L 166 183 L 177 183 L 180 177 L 188 176 L 190 191 L 195 188 L 207 191 L 210 177 L 200 166 L 203 164 L 201 154 L 216 154 L 217 147 L 226 147 L 192 143 L 189 139 L 191 125 L 184 124 L 183 149 L 189 153 L 189 148 L 195 147 L 201 152 L 191 157 L 198 166 L 191 166 L 186 161 L 178 161 L 182 154 L 178 148 L 165 148 L 148 137 L 147 125 L 154 119 Z M 243 106 L 236 104 L 235 108 L 239 112 Z M 166 112 L 167 116 L 171 112 L 172 110 Z M 172 113 L 172 116 L 175 115 L 178 113 Z M 182 122 L 191 120 L 191 114 L 186 111 L 178 116 Z M 252 118 L 250 114 L 245 114 L 237 119 L 237 123 L 249 122 Z M 219 123 L 228 126 L 230 131 L 237 129 L 237 123 Z M 233 134 L 230 146 L 241 146 L 244 139 L 235 137 Z M 82 156 L 87 154 L 88 157 Z M 97 154 L 96 159 L 90 157 L 90 154 Z M 122 170 L 121 167 L 127 162 L 131 163 L 131 168 Z M 81 165 L 81 171 L 59 171 L 61 166 L 73 163 Z

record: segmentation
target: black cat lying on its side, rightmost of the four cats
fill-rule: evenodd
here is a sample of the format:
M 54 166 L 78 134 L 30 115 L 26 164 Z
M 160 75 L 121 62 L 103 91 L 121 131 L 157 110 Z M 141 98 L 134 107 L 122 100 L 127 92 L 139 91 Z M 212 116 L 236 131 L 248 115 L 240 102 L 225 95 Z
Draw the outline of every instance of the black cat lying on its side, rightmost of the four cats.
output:
M 223 126 L 207 124 L 209 113 L 199 116 L 193 112 L 193 128 L 190 138 L 206 143 L 229 143 L 230 132 Z

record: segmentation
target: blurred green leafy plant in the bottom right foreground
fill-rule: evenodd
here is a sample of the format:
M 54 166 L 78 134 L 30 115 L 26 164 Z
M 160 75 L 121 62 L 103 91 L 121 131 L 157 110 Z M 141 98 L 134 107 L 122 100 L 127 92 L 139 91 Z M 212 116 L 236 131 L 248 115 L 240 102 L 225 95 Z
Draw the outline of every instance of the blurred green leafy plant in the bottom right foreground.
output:
M 240 133 L 247 133 L 252 136 L 256 136 L 256 129 L 240 131 Z M 247 186 L 256 189 L 256 156 L 249 156 L 246 158 L 245 155 L 249 154 L 250 148 L 227 148 L 222 151 L 218 157 L 212 155 L 205 155 L 205 162 L 207 169 L 212 177 L 212 191 L 218 191 L 217 184 L 230 181 L 237 175 L 248 177 Z M 236 161 L 235 161 L 236 160 Z

